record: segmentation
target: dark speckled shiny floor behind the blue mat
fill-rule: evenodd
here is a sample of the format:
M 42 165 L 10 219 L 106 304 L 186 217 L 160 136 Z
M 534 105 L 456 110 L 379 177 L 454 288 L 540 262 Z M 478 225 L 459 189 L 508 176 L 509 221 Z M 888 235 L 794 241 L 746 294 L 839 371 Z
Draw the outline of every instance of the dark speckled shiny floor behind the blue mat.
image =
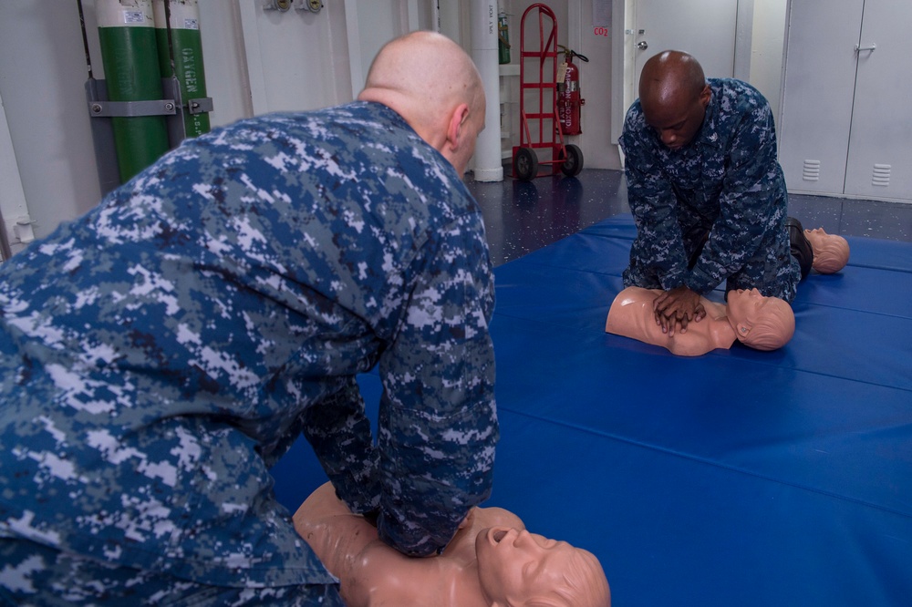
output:
M 621 212 L 629 212 L 624 173 L 584 169 L 575 178 L 482 183 L 466 178 L 482 207 L 494 265 L 509 262 Z M 912 242 L 912 204 L 793 194 L 789 214 L 805 228 L 844 236 Z

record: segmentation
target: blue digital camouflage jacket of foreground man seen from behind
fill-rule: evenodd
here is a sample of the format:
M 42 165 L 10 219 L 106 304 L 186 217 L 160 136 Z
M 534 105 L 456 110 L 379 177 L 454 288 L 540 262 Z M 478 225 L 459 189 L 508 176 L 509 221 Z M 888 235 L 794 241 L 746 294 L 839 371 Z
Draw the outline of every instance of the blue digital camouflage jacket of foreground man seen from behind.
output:
M 414 555 L 490 494 L 481 211 L 355 102 L 189 139 L 0 266 L 0 536 L 217 586 L 332 584 L 272 493 L 304 432 Z M 384 386 L 378 446 L 355 376 Z

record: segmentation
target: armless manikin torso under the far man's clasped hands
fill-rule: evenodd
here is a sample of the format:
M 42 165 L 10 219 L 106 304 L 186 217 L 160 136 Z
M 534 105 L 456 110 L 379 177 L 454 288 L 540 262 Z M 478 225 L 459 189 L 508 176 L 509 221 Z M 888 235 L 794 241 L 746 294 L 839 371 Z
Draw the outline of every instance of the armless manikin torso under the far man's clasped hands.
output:
M 717 348 L 731 348 L 735 340 L 757 350 L 775 350 L 792 339 L 792 307 L 777 297 L 764 297 L 756 289 L 731 291 L 728 305 L 700 297 L 706 316 L 690 323 L 686 331 L 665 333 L 656 322 L 653 302 L 659 289 L 627 287 L 617 293 L 608 311 L 607 333 L 623 335 L 672 354 L 699 356 Z

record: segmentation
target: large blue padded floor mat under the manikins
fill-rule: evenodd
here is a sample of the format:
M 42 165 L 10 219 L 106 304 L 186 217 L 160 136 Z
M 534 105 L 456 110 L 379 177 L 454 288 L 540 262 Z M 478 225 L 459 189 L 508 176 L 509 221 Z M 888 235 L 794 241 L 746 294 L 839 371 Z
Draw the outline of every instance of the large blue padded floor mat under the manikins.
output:
M 604 332 L 635 233 L 495 270 L 489 505 L 596 553 L 616 605 L 912 604 L 912 245 L 849 238 L 778 351 L 684 358 Z M 300 442 L 274 468 L 292 510 L 325 480 Z

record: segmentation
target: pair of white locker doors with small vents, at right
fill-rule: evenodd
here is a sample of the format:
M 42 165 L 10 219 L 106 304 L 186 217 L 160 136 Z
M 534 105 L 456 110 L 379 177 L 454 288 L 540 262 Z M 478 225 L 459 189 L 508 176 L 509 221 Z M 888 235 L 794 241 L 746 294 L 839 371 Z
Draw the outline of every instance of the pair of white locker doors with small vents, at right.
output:
M 790 7 L 780 138 L 788 188 L 912 201 L 912 5 L 831 2 Z

